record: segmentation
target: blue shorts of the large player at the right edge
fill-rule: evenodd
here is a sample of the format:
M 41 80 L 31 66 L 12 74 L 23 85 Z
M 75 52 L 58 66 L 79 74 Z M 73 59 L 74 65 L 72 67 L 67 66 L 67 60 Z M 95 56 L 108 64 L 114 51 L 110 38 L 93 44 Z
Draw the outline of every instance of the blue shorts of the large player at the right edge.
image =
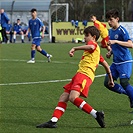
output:
M 132 62 L 123 63 L 123 64 L 112 64 L 110 70 L 114 80 L 118 78 L 130 78 L 132 74 Z

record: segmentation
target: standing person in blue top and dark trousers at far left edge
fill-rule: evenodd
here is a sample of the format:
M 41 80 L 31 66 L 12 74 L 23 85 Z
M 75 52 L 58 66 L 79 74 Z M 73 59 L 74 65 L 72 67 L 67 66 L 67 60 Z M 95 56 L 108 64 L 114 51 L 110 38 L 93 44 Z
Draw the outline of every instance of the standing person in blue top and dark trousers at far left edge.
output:
M 9 43 L 9 40 L 8 40 L 8 37 L 6 35 L 6 27 L 8 25 L 8 21 L 9 21 L 9 18 L 7 16 L 7 14 L 5 13 L 4 9 L 1 9 L 0 10 L 0 14 L 1 14 L 1 26 L 2 26 L 2 42 L 5 42 L 6 40 L 6 43 Z

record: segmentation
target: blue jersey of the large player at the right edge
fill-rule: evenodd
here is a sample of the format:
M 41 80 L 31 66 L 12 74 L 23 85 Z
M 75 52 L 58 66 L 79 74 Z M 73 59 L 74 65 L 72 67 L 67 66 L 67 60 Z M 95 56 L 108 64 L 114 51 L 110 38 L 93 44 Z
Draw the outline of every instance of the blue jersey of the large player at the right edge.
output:
M 110 40 L 128 41 L 131 40 L 127 30 L 123 26 L 119 26 L 116 30 L 109 30 Z M 116 64 L 132 62 L 131 52 L 127 47 L 121 46 L 119 44 L 111 45 L 113 52 L 113 62 Z

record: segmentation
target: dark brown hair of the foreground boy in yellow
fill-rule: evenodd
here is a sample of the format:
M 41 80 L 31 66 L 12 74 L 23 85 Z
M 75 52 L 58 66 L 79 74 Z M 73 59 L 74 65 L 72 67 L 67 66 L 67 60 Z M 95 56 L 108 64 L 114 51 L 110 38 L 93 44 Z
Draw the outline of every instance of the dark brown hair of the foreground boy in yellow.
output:
M 96 41 L 98 40 L 100 32 L 95 26 L 88 26 L 87 28 L 84 29 L 85 35 L 88 35 L 89 33 L 91 34 L 91 36 L 96 36 Z

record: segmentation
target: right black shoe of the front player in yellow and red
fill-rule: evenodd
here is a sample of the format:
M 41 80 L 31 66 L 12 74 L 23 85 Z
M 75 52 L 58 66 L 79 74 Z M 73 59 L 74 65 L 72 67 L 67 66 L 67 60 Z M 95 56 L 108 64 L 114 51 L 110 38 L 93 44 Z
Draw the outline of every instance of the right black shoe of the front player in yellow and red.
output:
M 99 124 L 102 128 L 104 128 L 104 127 L 105 127 L 104 112 L 103 112 L 103 111 L 102 111 L 102 112 L 96 112 L 96 115 L 97 115 L 96 120 L 97 120 L 98 124 Z

